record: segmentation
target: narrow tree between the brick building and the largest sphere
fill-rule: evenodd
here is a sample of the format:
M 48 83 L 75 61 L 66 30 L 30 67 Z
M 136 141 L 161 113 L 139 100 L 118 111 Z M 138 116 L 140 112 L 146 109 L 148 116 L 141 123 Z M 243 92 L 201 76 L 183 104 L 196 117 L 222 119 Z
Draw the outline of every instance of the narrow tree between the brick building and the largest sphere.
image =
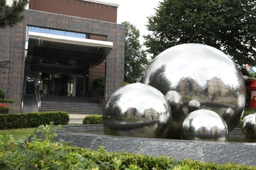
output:
M 142 76 L 148 63 L 146 52 L 142 50 L 139 42 L 140 31 L 130 22 L 125 25 L 125 75 L 124 81 L 133 83 Z

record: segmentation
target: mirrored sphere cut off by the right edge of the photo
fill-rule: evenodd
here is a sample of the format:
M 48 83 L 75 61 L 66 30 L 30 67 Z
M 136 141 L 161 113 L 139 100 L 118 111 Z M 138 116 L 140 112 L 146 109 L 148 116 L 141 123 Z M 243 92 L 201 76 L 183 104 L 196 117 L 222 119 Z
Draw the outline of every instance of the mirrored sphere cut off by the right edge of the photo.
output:
M 241 130 L 246 137 L 256 137 L 256 113 L 245 116 L 242 120 Z

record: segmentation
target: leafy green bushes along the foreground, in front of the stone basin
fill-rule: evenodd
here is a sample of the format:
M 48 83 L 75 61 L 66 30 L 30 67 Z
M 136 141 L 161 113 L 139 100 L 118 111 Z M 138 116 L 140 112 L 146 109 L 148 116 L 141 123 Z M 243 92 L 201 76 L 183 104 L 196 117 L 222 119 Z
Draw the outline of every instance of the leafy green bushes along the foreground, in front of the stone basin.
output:
M 179 161 L 166 156 L 153 157 L 123 151 L 108 152 L 68 146 L 65 141 L 54 141 L 62 126 L 39 126 L 30 140 L 4 143 L 0 135 L 1 169 L 256 169 L 255 166 L 236 163 L 203 163 L 201 161 Z

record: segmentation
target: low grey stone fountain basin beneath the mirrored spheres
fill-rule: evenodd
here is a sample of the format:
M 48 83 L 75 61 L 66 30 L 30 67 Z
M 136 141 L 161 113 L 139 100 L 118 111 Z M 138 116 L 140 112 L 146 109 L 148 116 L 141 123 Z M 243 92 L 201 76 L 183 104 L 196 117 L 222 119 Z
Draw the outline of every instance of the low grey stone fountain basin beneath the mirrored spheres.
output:
M 95 134 L 93 134 L 95 132 Z M 72 145 L 96 150 L 104 146 L 110 152 L 125 152 L 149 156 L 168 156 L 178 160 L 188 158 L 221 164 L 236 163 L 256 166 L 256 143 L 238 141 L 186 141 L 177 139 L 155 139 L 141 137 L 121 137 L 103 135 L 102 125 L 64 126 L 58 133 L 58 139 L 72 141 Z M 230 137 L 240 136 L 240 129 L 234 129 Z M 254 141 L 255 142 L 255 141 Z

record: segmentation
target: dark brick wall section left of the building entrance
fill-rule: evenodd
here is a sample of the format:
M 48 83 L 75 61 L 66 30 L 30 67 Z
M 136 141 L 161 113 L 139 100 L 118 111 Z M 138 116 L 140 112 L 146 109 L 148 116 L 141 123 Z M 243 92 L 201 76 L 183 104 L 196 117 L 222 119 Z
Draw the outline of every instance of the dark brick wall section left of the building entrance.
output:
M 26 27 L 18 24 L 16 27 L 0 30 L 0 62 L 9 61 L 7 67 L 0 67 L 0 89 L 5 91 L 6 98 L 15 100 L 10 112 L 20 112 Z

